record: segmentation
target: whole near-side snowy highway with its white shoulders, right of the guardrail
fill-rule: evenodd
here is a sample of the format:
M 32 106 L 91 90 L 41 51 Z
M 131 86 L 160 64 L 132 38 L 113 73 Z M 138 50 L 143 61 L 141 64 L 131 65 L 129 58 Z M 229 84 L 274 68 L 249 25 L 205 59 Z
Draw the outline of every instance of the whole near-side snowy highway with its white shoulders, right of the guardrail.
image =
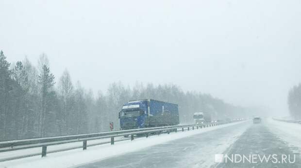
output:
M 0 162 L 1 168 L 300 168 L 301 125 L 266 119 L 119 141 L 88 148 Z M 218 163 L 216 154 L 256 157 L 294 156 L 289 163 L 268 161 Z M 257 159 L 257 160 L 256 160 Z

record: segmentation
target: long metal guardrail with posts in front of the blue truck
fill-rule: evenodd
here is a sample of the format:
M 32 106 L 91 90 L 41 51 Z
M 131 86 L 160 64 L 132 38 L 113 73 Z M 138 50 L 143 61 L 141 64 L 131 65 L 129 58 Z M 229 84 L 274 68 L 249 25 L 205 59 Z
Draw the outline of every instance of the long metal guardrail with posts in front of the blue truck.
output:
M 83 150 L 86 150 L 87 140 L 111 138 L 111 144 L 113 145 L 114 137 L 131 136 L 131 140 L 134 140 L 134 135 L 144 135 L 148 137 L 150 134 L 161 134 L 162 131 L 167 131 L 167 133 L 169 133 L 172 131 L 177 132 L 178 129 L 182 129 L 182 131 L 184 131 L 184 128 L 187 128 L 187 130 L 189 130 L 190 128 L 199 129 L 202 127 L 217 126 L 222 124 L 226 124 L 226 123 L 205 123 L 205 124 L 194 124 L 194 125 L 184 125 L 184 126 L 160 126 L 160 127 L 129 129 L 129 130 L 80 134 L 80 135 L 0 141 L 0 152 L 9 152 L 9 151 L 22 150 L 22 149 L 42 147 L 42 157 L 44 157 L 47 154 L 47 146 L 50 145 L 58 145 L 58 144 L 83 141 Z

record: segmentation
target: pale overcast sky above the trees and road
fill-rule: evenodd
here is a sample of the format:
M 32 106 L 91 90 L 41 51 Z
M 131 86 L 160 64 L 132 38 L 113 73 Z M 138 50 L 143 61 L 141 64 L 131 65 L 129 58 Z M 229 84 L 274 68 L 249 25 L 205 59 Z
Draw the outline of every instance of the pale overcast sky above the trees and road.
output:
M 0 0 L 8 61 L 41 53 L 85 88 L 176 84 L 287 112 L 301 82 L 301 0 Z

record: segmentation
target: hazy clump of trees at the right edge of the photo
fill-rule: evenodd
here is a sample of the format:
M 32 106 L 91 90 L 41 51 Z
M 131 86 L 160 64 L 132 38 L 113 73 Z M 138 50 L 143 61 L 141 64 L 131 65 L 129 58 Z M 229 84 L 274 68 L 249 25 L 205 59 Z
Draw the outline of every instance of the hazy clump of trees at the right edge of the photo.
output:
M 295 120 L 301 120 L 301 84 L 290 89 L 287 104 L 291 117 Z

